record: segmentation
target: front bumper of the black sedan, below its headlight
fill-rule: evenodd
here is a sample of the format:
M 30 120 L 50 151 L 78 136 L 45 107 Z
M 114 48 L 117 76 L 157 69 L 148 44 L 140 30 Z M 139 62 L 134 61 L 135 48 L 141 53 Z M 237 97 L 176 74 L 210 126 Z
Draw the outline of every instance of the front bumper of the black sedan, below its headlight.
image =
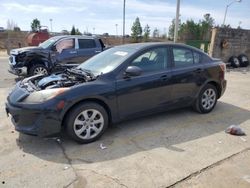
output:
M 21 133 L 46 137 L 61 131 L 61 120 L 56 111 L 16 107 L 9 102 L 5 109 L 7 115 L 11 115 L 15 129 Z

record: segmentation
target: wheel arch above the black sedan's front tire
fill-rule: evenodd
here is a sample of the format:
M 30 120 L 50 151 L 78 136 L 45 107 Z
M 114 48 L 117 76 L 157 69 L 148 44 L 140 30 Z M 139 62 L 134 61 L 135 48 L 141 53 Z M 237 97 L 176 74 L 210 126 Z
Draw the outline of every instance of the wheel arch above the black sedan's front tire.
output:
M 102 106 L 106 110 L 106 112 L 108 114 L 108 121 L 109 121 L 109 123 L 112 122 L 112 114 L 111 114 L 110 107 L 103 100 L 101 100 L 101 99 L 90 98 L 90 99 L 80 100 L 80 101 L 76 102 L 75 104 L 73 104 L 69 109 L 67 109 L 67 111 L 63 114 L 62 127 L 65 127 L 66 118 L 70 114 L 70 112 L 71 112 L 72 109 L 74 109 L 76 106 L 80 105 L 81 103 L 88 103 L 88 102 L 97 103 L 100 106 Z

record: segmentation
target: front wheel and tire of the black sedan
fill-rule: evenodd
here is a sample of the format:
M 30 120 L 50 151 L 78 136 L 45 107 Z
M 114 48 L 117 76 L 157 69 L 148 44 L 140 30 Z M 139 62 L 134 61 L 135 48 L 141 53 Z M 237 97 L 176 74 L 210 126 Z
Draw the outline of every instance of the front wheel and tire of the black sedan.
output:
M 77 105 L 69 112 L 65 121 L 67 134 L 81 144 L 99 139 L 108 127 L 108 122 L 106 110 L 92 102 Z

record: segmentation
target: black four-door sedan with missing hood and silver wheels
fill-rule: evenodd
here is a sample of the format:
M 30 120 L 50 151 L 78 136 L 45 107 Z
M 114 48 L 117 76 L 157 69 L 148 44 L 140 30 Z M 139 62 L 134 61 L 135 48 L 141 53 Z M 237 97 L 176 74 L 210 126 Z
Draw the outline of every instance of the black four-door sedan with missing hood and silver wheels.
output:
M 80 143 L 111 123 L 192 106 L 208 113 L 226 89 L 225 64 L 182 44 L 113 47 L 60 74 L 18 82 L 6 112 L 15 129 L 50 136 L 66 128 Z

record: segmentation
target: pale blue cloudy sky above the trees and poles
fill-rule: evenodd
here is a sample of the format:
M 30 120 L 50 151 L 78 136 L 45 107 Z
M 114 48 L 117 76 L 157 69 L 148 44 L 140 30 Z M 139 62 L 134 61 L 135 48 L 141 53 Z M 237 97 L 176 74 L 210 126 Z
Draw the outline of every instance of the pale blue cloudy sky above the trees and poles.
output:
M 210 13 L 216 24 L 223 22 L 225 7 L 233 0 L 181 0 L 181 21 L 198 21 Z M 6 28 L 7 20 L 13 20 L 22 30 L 30 30 L 34 18 L 41 25 L 52 30 L 71 30 L 72 25 L 81 32 L 95 34 L 122 34 L 123 0 L 0 0 L 0 26 Z M 141 25 L 148 24 L 153 31 L 168 31 L 175 17 L 176 0 L 126 0 L 126 34 L 131 34 L 131 26 L 136 17 Z M 226 24 L 237 27 L 241 23 L 244 29 L 250 29 L 250 0 L 233 3 L 229 9 Z

